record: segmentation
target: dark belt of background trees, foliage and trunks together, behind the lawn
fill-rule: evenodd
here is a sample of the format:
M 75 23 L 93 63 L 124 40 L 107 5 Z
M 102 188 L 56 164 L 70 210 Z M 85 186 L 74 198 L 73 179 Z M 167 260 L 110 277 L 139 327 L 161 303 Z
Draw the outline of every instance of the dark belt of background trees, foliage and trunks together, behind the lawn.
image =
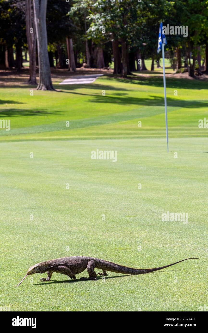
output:
M 28 47 L 25 17 L 25 1 L 0 0 L 1 66 L 6 63 L 21 70 L 22 51 Z M 113 64 L 115 74 L 127 76 L 145 69 L 145 59 L 152 59 L 154 70 L 154 62 L 160 58 L 158 30 L 163 22 L 165 26 L 188 27 L 187 37 L 166 36 L 166 56 L 176 57 L 178 68 L 185 66 L 194 76 L 197 60 L 201 66 L 199 56 L 204 57 L 204 63 L 208 61 L 207 19 L 208 0 L 50 0 L 46 13 L 50 66 L 68 68 L 70 53 L 75 67 Z M 138 58 L 143 61 L 142 67 Z

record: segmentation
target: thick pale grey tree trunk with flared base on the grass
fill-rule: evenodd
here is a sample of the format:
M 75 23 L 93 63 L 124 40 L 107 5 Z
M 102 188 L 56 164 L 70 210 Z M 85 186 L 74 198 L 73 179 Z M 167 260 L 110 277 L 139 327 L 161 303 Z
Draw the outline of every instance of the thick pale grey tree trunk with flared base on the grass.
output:
M 54 90 L 47 49 L 46 8 L 47 0 L 33 0 L 38 46 L 39 83 L 37 90 Z

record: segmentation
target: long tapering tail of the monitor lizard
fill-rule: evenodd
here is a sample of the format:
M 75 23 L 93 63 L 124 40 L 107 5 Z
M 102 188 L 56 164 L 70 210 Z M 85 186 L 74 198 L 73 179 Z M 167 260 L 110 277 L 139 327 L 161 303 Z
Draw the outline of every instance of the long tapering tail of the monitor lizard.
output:
M 110 261 L 106 261 L 106 260 L 102 260 L 102 259 L 95 259 L 95 267 L 99 268 L 99 269 L 107 270 L 107 271 L 110 271 L 110 272 L 114 272 L 114 273 L 134 274 L 134 275 L 136 275 L 136 274 L 146 274 L 146 273 L 155 272 L 157 270 L 160 270 L 160 269 L 178 264 L 181 261 L 189 260 L 189 259 L 199 259 L 199 258 L 187 258 L 187 259 L 183 259 L 183 260 L 174 262 L 173 264 L 169 264 L 169 265 L 166 265 L 166 266 L 156 267 L 156 268 L 148 268 L 148 269 L 131 268 L 131 267 L 118 265 L 118 264 L 115 264 L 115 263 L 110 262 Z

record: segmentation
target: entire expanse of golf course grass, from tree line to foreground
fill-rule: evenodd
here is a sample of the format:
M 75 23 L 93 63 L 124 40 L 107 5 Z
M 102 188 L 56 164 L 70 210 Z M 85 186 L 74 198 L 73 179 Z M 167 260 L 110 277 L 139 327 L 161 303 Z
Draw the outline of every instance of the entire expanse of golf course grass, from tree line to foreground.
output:
M 11 120 L 10 131 L 0 129 L 1 306 L 199 311 L 207 304 L 208 132 L 198 127 L 208 118 L 207 83 L 167 78 L 168 154 L 162 76 L 59 82 L 62 92 L 33 96 L 24 84 L 1 89 L 0 119 Z M 96 149 L 117 151 L 117 162 L 92 160 Z M 167 211 L 188 213 L 188 223 L 162 221 Z M 97 281 L 34 274 L 16 287 L 31 265 L 72 255 L 135 268 L 199 260 Z

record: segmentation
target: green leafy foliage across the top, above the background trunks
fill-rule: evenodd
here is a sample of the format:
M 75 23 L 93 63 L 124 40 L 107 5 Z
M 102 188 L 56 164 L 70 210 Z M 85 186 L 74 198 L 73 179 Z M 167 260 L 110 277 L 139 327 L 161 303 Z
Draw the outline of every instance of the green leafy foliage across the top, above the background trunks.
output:
M 5 45 L 12 46 L 18 41 L 26 46 L 24 7 L 24 1 L 0 0 L 2 52 Z M 188 27 L 187 38 L 166 36 L 166 50 L 171 57 L 176 48 L 181 48 L 182 56 L 196 57 L 198 46 L 204 50 L 208 40 L 208 0 L 51 0 L 47 4 L 46 19 L 50 45 L 61 45 L 69 36 L 73 38 L 74 51 L 82 56 L 88 38 L 91 56 L 96 46 L 101 46 L 108 62 L 112 58 L 110 42 L 115 39 L 126 42 L 131 54 L 139 50 L 143 58 L 158 60 L 160 22 L 166 26 Z

